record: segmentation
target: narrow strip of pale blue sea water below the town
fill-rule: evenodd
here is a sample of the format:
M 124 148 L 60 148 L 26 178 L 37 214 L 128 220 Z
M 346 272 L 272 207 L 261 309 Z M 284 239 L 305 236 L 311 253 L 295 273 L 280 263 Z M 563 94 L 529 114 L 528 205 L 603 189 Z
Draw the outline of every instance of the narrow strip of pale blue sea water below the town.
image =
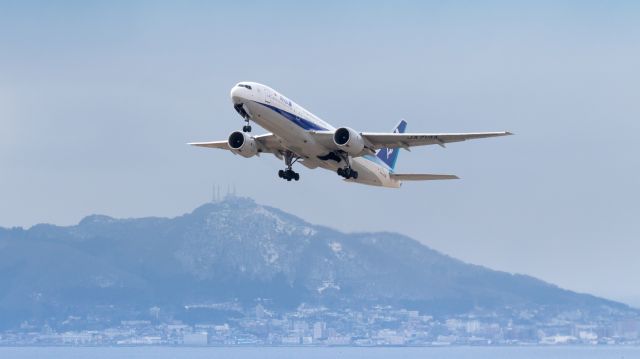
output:
M 640 347 L 0 347 L 1 359 L 640 359 Z

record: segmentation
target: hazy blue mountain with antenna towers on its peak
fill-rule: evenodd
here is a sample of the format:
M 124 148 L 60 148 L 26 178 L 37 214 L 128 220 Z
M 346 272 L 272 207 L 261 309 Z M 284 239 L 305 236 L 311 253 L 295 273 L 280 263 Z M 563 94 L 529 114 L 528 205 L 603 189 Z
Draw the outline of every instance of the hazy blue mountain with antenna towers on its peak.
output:
M 471 265 L 395 233 L 342 233 L 229 197 L 176 218 L 92 215 L 78 225 L 0 228 L 0 325 L 239 315 L 259 300 L 610 317 L 624 304 Z M 216 304 L 217 303 L 217 304 Z M 220 303 L 227 303 L 221 305 Z M 156 311 L 157 311 L 156 310 Z M 206 312 L 206 313 L 205 313 Z M 92 319 L 93 318 L 93 319 Z M 188 319 L 188 318 L 187 318 Z

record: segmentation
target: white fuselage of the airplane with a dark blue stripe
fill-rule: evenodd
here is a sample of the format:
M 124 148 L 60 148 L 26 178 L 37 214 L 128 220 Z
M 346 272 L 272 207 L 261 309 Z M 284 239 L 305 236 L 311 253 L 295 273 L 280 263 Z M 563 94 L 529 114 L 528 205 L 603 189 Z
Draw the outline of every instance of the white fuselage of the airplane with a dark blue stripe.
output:
M 334 131 L 335 127 L 268 86 L 255 82 L 240 84 L 251 89 L 234 86 L 231 89 L 233 104 L 244 104 L 251 121 L 273 133 L 284 148 L 301 157 L 305 167 L 321 167 L 334 172 L 345 167 L 344 161 L 318 158 L 326 156 L 335 148 L 317 143 L 309 133 Z M 348 182 L 394 188 L 401 185 L 401 181 L 391 178 L 391 169 L 376 156 L 365 155 L 348 160 L 351 161 L 351 167 L 358 171 L 358 178 L 346 180 Z

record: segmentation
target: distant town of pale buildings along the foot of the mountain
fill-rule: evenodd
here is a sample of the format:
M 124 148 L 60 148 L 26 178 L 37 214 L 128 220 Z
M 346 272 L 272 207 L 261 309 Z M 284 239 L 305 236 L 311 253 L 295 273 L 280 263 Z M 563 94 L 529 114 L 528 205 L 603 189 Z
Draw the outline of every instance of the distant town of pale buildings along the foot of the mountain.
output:
M 190 306 L 188 310 L 237 310 L 235 303 Z M 579 311 L 545 320 L 522 311 L 506 319 L 496 313 L 474 313 L 437 319 L 418 311 L 375 306 L 333 311 L 301 306 L 277 314 L 257 304 L 244 316 L 218 322 L 164 322 L 160 308 L 150 320 L 122 320 L 94 330 L 81 327 L 100 318 L 70 316 L 54 326 L 22 323 L 0 333 L 0 345 L 68 346 L 453 346 L 453 345 L 640 345 L 640 318 L 593 320 Z

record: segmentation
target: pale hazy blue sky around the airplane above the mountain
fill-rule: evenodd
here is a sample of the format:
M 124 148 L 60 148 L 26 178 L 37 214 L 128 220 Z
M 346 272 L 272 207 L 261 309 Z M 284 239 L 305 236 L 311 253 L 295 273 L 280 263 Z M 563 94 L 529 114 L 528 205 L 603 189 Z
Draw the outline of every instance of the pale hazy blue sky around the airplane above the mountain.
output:
M 299 166 L 288 183 L 275 157 L 185 145 L 241 128 L 241 80 L 335 126 L 517 135 L 398 160 L 459 181 L 393 190 Z M 233 184 L 640 306 L 638 133 L 635 1 L 0 3 L 0 226 L 176 216 Z

